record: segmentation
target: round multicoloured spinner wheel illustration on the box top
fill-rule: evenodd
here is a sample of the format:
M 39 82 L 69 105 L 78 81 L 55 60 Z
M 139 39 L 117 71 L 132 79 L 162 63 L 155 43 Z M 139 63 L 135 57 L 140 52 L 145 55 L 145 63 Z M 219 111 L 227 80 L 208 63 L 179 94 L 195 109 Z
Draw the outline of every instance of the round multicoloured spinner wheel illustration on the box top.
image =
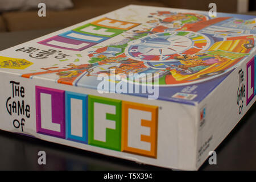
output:
M 125 53 L 139 61 L 176 61 L 180 55 L 192 55 L 204 51 L 210 39 L 191 31 L 169 31 L 152 34 L 128 43 Z

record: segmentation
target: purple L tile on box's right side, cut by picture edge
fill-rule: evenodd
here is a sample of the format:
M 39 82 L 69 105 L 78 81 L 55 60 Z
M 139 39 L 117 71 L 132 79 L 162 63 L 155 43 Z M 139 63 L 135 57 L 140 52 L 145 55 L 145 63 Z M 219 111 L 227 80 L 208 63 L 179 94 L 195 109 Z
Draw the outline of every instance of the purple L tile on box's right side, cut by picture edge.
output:
M 253 100 L 256 95 L 256 56 L 254 56 L 247 64 L 246 64 L 246 73 L 247 73 L 247 92 L 246 92 L 246 105 Z

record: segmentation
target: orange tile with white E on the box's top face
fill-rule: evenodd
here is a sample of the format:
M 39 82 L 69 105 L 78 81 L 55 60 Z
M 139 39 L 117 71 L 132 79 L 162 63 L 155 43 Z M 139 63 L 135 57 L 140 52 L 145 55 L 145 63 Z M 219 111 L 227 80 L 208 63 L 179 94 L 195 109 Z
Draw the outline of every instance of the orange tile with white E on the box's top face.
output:
M 95 22 L 92 22 L 92 24 L 95 24 L 97 26 L 102 26 L 102 27 L 108 27 L 108 28 L 116 28 L 120 30 L 130 30 L 131 28 L 134 28 L 139 25 L 139 23 L 125 22 L 125 21 L 115 20 L 110 18 L 102 18 Z

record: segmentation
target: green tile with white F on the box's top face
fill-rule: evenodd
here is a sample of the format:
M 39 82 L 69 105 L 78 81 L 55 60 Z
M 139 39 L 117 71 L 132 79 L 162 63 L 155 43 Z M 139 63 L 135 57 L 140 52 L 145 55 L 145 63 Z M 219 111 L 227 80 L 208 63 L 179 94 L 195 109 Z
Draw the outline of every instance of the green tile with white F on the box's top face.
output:
M 124 30 L 101 27 L 101 26 L 96 26 L 94 24 L 88 23 L 88 24 L 85 24 L 84 26 L 73 29 L 73 31 L 81 32 L 82 34 L 105 36 L 108 38 L 112 38 L 114 36 L 122 34 Z

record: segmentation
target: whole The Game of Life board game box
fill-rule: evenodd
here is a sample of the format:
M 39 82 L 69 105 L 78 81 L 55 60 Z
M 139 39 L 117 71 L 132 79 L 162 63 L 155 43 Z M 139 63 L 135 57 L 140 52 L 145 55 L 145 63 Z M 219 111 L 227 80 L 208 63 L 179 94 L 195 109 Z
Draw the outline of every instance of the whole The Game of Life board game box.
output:
M 199 169 L 255 102 L 255 39 L 249 15 L 130 5 L 97 16 L 0 52 L 0 129 Z

